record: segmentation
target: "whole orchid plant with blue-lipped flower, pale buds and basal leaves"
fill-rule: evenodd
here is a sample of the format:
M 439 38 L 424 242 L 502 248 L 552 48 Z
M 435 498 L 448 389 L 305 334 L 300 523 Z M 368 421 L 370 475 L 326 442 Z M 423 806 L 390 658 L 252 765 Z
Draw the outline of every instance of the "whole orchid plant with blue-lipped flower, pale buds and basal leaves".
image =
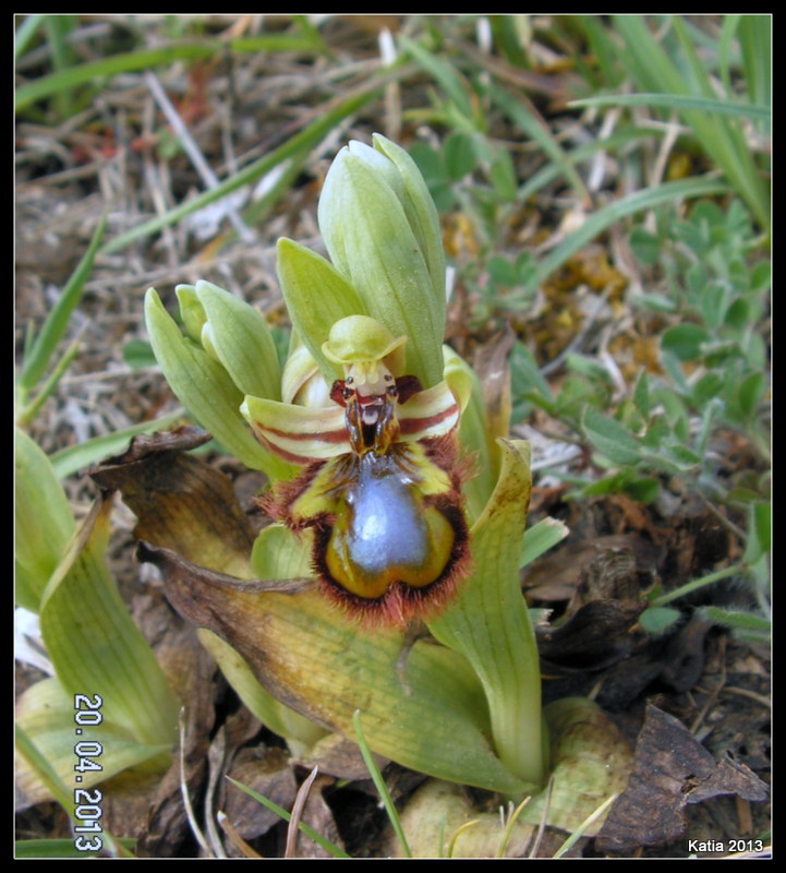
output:
M 196 546 L 144 557 L 164 570 L 176 608 L 234 648 L 287 711 L 351 737 L 360 710 L 373 751 L 508 797 L 540 794 L 556 766 L 555 814 L 576 814 L 577 791 L 594 809 L 620 774 L 606 769 L 584 796 L 570 787 L 572 753 L 549 763 L 519 588 L 522 554 L 565 531 L 546 524 L 524 541 L 528 447 L 504 439 L 507 418 L 487 414 L 474 373 L 443 349 L 442 240 L 414 163 L 382 136 L 351 144 L 326 179 L 319 224 L 332 263 L 279 242 L 293 324 L 280 376 L 250 306 L 209 283 L 181 286 L 183 335 L 148 292 L 170 385 L 268 475 L 264 505 L 279 523 L 220 566 Z M 475 457 L 471 479 L 450 462 L 456 439 Z M 442 645 L 416 642 L 420 622 Z

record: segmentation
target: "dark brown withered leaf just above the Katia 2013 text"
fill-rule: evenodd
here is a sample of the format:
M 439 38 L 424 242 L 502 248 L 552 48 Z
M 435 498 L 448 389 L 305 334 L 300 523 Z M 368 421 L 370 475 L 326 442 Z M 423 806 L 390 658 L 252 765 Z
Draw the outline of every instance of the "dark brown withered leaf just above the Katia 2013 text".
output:
M 685 829 L 686 804 L 717 794 L 761 801 L 767 788 L 745 765 L 730 758 L 716 762 L 680 721 L 650 705 L 628 787 L 595 845 L 601 851 L 622 853 L 674 842 Z

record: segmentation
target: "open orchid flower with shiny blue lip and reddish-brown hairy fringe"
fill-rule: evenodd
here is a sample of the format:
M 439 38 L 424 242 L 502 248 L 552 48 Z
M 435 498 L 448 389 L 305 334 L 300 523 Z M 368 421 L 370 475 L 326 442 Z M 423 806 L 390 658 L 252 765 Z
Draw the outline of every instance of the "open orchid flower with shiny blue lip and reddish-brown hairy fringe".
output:
M 445 382 L 423 391 L 401 374 L 404 343 L 371 318 L 341 319 L 323 346 L 344 370 L 335 406 L 246 397 L 242 407 L 265 447 L 305 465 L 264 507 L 312 533 L 321 588 L 366 624 L 432 617 L 469 563 L 459 402 Z

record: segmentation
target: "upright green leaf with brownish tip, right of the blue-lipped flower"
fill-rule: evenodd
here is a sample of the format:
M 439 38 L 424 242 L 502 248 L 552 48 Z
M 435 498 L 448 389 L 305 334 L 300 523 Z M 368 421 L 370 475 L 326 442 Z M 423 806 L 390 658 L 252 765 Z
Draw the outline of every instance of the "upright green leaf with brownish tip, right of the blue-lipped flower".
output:
M 499 481 L 471 531 L 474 570 L 454 603 L 428 627 L 477 673 L 488 701 L 495 746 L 508 770 L 540 786 L 545 775 L 541 674 L 519 584 L 532 488 L 530 450 L 520 441 L 503 441 L 501 446 Z

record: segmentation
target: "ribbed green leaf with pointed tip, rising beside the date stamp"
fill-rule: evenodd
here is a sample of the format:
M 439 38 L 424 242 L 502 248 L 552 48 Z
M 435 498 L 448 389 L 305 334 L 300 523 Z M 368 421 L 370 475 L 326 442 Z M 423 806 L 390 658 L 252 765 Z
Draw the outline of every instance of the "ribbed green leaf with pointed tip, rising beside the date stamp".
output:
M 99 694 L 130 741 L 171 748 L 178 703 L 105 563 L 111 502 L 96 503 L 40 606 L 41 637 L 66 694 Z

